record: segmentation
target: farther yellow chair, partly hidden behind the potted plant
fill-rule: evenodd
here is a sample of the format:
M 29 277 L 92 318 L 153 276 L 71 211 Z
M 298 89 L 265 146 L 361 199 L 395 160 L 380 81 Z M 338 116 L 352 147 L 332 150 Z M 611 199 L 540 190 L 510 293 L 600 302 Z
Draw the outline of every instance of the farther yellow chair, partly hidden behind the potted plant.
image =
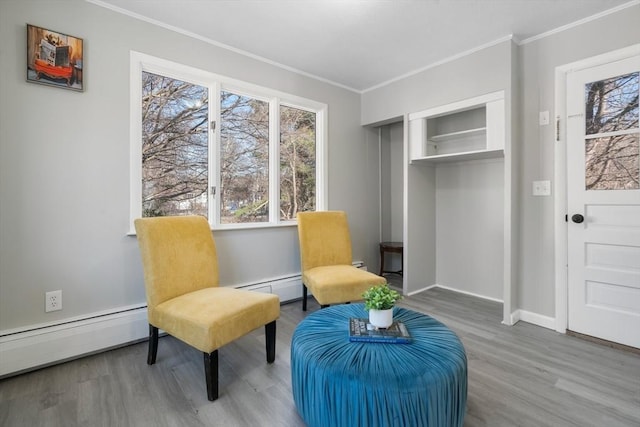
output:
M 302 268 L 302 310 L 307 288 L 322 307 L 362 299 L 384 277 L 353 266 L 347 215 L 342 211 L 299 212 L 298 238 Z

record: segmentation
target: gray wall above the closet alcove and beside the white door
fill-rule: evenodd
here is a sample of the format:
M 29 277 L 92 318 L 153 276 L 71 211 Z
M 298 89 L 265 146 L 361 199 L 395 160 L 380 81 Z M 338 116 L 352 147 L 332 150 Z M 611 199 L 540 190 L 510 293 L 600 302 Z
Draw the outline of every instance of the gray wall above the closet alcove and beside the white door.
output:
M 513 310 L 555 316 L 553 196 L 531 195 L 532 181 L 554 177 L 554 129 L 538 125 L 538 112 L 549 111 L 555 117 L 555 68 L 640 43 L 639 22 L 640 5 L 635 5 L 525 44 L 500 43 L 362 95 L 361 122 L 369 125 L 507 89 L 507 99 L 514 103 L 510 134 L 516 156 Z M 411 212 L 410 208 L 408 215 Z M 425 270 L 425 281 L 429 280 Z

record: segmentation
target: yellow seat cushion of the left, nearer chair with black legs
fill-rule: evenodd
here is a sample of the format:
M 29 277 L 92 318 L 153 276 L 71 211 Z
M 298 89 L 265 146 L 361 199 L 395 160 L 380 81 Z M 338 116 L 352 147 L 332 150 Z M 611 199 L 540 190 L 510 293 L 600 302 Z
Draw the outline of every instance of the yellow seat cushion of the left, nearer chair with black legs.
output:
M 159 304 L 149 312 L 149 323 L 211 353 L 279 316 L 277 295 L 212 287 Z

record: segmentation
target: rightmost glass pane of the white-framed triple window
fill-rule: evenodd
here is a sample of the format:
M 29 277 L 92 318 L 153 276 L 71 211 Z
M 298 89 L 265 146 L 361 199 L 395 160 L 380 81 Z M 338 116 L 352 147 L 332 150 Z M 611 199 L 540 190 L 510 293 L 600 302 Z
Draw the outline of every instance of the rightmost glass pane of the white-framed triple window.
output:
M 280 219 L 316 209 L 316 114 L 280 107 Z

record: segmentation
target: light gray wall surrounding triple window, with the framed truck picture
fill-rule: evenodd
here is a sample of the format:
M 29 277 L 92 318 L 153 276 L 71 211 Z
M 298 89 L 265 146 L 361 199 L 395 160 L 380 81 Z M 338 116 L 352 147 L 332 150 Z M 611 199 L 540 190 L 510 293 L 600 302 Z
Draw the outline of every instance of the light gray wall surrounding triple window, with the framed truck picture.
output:
M 26 23 L 81 37 L 85 92 L 27 83 Z M 360 96 L 82 0 L 0 2 L 0 331 L 145 302 L 129 224 L 129 52 L 329 106 L 329 208 L 377 263 L 378 151 Z M 299 273 L 295 227 L 214 232 L 221 280 Z M 44 313 L 62 289 L 63 310 Z

